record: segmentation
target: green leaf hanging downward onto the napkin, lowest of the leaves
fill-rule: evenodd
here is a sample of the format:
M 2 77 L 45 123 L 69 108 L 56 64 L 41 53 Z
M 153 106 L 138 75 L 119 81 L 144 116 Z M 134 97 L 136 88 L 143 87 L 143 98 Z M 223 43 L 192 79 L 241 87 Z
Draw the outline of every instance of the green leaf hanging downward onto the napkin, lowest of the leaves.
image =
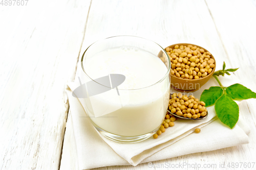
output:
M 215 111 L 221 122 L 229 128 L 233 128 L 234 125 L 238 122 L 239 118 L 239 107 L 236 102 L 232 100 L 232 98 L 223 94 L 220 99 L 216 101 Z

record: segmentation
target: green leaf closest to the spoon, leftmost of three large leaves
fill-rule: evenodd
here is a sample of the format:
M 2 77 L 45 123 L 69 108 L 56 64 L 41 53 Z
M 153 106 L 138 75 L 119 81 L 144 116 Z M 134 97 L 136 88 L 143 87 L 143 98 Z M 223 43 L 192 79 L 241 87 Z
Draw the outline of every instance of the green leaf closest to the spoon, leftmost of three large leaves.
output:
M 219 99 L 222 94 L 223 89 L 221 87 L 213 86 L 202 92 L 200 101 L 203 101 L 205 103 L 205 106 L 207 107 L 215 104 L 217 99 Z

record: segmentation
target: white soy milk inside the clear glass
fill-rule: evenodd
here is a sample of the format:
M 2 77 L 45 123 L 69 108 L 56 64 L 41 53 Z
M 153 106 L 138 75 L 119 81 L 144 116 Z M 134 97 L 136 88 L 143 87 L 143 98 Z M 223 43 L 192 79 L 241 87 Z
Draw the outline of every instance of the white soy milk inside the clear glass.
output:
M 120 96 L 116 89 L 112 89 L 86 99 L 87 114 L 98 127 L 116 135 L 137 136 L 161 125 L 168 106 L 170 85 L 168 76 L 157 83 L 167 72 L 157 56 L 139 48 L 121 46 L 88 57 L 84 69 L 91 79 L 109 74 L 125 76 L 125 81 L 118 86 Z M 95 117 L 98 108 L 118 106 L 119 109 Z

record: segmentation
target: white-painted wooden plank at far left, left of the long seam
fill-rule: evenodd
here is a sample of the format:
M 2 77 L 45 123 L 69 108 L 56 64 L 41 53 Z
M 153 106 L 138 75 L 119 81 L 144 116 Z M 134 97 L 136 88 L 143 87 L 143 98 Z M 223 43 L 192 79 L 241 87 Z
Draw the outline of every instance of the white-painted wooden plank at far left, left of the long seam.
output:
M 90 1 L 0 10 L 0 169 L 58 169 Z

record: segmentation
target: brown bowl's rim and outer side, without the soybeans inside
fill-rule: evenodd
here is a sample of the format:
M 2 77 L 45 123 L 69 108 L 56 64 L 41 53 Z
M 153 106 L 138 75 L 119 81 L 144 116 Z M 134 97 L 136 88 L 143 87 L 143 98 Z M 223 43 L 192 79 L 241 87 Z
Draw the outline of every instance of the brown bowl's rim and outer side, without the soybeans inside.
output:
M 195 45 L 195 44 L 190 44 L 190 43 L 177 43 L 177 44 L 173 44 L 170 46 L 167 46 L 169 48 L 174 49 L 175 45 L 193 45 L 193 46 L 197 46 L 200 48 L 203 48 L 199 45 Z M 165 49 L 165 48 L 164 48 Z M 206 52 L 208 52 L 208 50 L 206 50 L 205 48 L 203 48 Z M 214 56 L 212 56 L 211 54 L 211 58 L 214 58 Z M 176 76 L 170 75 L 170 85 L 171 87 L 173 86 L 173 88 L 177 91 L 181 91 L 181 92 L 193 92 L 196 91 L 198 89 L 200 89 L 210 78 L 211 76 L 214 74 L 216 68 L 216 60 L 215 60 L 215 67 L 212 68 L 212 71 L 209 75 L 207 75 L 206 77 L 200 78 L 200 79 L 182 79 L 182 78 L 178 78 Z

